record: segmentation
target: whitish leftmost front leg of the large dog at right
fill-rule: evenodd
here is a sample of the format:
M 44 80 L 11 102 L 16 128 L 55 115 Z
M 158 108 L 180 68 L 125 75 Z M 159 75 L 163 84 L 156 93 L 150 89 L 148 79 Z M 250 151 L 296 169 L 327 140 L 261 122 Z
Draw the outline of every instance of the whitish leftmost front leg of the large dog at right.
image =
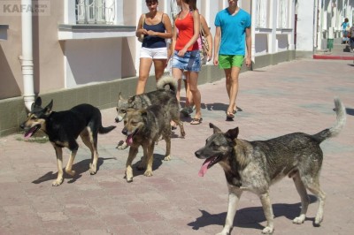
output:
M 227 219 L 225 221 L 224 229 L 219 232 L 217 235 L 228 235 L 231 234 L 231 231 L 234 226 L 234 218 L 236 214 L 237 204 L 240 201 L 242 194 L 241 190 L 233 190 L 228 186 L 228 208 L 227 208 Z

